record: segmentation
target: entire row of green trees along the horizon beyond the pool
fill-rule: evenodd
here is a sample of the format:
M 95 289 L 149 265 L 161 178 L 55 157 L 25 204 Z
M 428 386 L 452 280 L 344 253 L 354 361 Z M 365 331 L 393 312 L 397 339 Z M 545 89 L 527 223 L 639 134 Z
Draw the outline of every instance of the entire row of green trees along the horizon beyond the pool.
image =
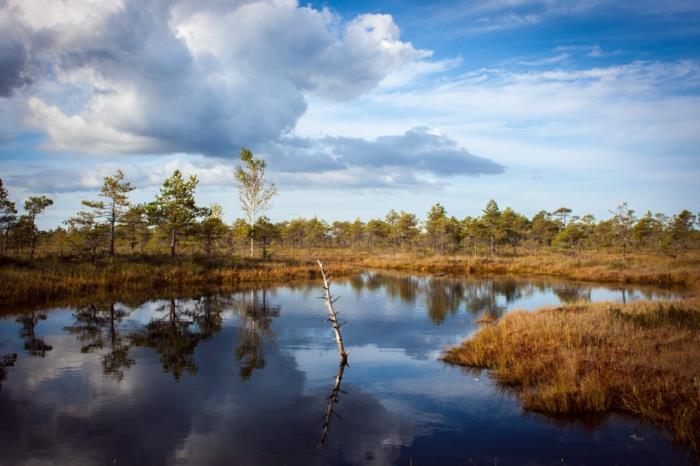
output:
M 235 170 L 242 218 L 223 220 L 220 205 L 197 205 L 196 176 L 179 170 L 167 178 L 155 199 L 135 204 L 134 187 L 117 170 L 104 177 L 98 200 L 83 201 L 84 209 L 62 226 L 39 231 L 36 219 L 53 201 L 32 196 L 19 215 L 0 180 L 0 229 L 4 255 L 34 258 L 37 244 L 47 254 L 188 254 L 256 255 L 266 258 L 274 248 L 349 248 L 443 254 L 517 255 L 522 248 L 554 249 L 576 254 L 584 250 L 616 250 L 671 255 L 700 245 L 700 215 L 682 210 L 676 215 L 647 212 L 637 216 L 627 203 L 610 211 L 607 219 L 576 215 L 567 207 L 541 210 L 531 218 L 489 201 L 478 216 L 458 219 L 441 204 L 425 219 L 410 212 L 390 210 L 384 218 L 328 223 L 317 217 L 273 223 L 263 215 L 277 194 L 265 176 L 266 164 L 247 149 Z

